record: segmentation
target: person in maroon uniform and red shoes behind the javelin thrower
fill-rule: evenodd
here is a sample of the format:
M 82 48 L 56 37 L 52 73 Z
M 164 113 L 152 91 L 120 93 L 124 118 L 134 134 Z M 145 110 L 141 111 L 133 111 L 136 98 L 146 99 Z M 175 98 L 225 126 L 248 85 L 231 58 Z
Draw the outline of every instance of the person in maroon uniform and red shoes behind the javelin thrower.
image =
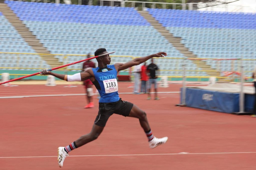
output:
M 90 53 L 87 55 L 87 58 L 90 58 Z M 85 61 L 83 63 L 82 72 L 86 71 L 86 69 L 88 69 L 88 68 L 95 68 L 95 63 L 90 60 Z M 90 79 L 87 79 L 87 80 L 83 81 L 83 85 L 86 89 L 87 100 L 88 100 L 88 104 L 84 108 L 92 108 L 92 107 L 94 107 L 94 103 L 92 101 L 92 95 L 93 95 L 92 82 Z

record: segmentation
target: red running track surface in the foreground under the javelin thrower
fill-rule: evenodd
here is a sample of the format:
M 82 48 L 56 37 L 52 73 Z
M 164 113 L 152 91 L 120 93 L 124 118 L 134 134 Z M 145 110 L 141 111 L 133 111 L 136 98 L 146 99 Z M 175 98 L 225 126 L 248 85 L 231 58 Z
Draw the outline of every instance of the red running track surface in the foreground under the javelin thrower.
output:
M 100 137 L 72 151 L 62 169 L 255 169 L 255 117 L 175 107 L 177 93 L 159 94 L 158 101 L 145 100 L 145 94 L 120 97 L 143 109 L 154 135 L 168 136 L 167 143 L 150 149 L 138 120 L 114 114 Z M 84 96 L 9 98 L 0 103 L 4 170 L 59 169 L 57 148 L 89 133 L 98 112 L 96 100 L 95 108 L 83 109 Z

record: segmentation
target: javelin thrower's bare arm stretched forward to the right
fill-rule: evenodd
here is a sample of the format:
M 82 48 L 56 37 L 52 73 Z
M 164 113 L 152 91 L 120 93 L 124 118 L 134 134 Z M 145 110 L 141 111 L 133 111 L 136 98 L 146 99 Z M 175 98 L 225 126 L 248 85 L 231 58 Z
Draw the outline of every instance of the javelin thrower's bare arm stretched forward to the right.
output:
M 164 57 L 164 56 L 167 56 L 167 54 L 165 52 L 159 52 L 159 53 L 156 53 L 156 54 L 152 54 L 150 56 L 147 56 L 147 57 L 140 57 L 140 58 L 135 58 L 133 59 L 132 61 L 128 61 L 126 63 L 115 63 L 114 66 L 115 68 L 120 71 L 120 70 L 125 70 L 129 67 L 132 67 L 132 66 L 136 66 L 136 65 L 139 65 L 153 57 Z

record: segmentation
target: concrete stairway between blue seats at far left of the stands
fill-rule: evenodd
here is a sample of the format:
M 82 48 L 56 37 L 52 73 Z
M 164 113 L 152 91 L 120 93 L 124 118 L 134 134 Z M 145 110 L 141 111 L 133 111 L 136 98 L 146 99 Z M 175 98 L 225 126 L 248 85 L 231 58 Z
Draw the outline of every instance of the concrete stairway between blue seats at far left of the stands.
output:
M 13 13 L 13 11 L 7 6 L 7 4 L 0 3 L 0 11 L 6 19 L 15 27 L 18 33 L 24 38 L 24 40 L 39 54 L 50 54 L 36 38 L 32 32 L 19 20 L 19 18 Z M 51 68 L 61 66 L 62 63 L 58 61 L 53 55 L 40 55 L 40 57 L 51 66 Z

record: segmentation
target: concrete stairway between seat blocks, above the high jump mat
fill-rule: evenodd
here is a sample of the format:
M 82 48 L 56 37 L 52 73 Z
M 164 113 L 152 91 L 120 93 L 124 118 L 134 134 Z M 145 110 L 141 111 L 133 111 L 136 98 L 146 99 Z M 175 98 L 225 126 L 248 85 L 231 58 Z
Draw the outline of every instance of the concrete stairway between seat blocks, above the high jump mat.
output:
M 185 57 L 196 58 L 197 56 L 189 51 L 188 48 L 184 46 L 184 44 L 180 43 L 181 38 L 173 36 L 168 30 L 163 27 L 155 18 L 148 13 L 148 11 L 138 11 L 141 16 L 143 16 L 151 25 L 160 32 L 173 46 L 180 51 L 180 53 L 184 54 Z M 210 65 L 206 64 L 205 61 L 202 60 L 192 60 L 193 63 L 197 65 L 197 67 L 202 68 L 203 70 L 207 70 L 206 73 L 210 76 L 220 76 L 220 72 L 217 72 L 216 69 L 211 68 Z

